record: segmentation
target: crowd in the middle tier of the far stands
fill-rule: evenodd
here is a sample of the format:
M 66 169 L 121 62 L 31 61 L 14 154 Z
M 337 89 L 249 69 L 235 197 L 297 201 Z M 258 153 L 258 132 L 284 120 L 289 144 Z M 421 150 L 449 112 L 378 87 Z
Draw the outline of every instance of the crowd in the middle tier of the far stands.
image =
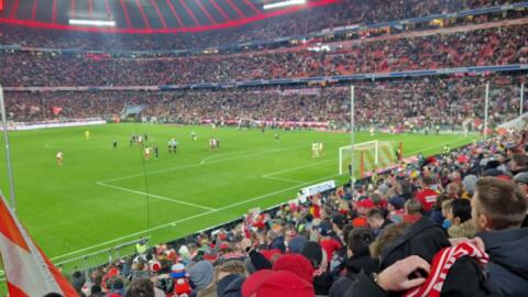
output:
M 256 52 L 175 58 L 0 53 L 8 87 L 160 86 L 388 73 L 528 62 L 528 25 L 358 42 L 328 53 Z

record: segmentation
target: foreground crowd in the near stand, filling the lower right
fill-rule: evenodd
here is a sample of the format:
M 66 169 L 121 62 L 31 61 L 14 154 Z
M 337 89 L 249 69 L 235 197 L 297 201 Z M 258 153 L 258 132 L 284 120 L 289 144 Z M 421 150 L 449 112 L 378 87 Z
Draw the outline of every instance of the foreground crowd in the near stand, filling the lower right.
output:
M 70 282 L 86 296 L 524 296 L 528 133 L 509 132 Z

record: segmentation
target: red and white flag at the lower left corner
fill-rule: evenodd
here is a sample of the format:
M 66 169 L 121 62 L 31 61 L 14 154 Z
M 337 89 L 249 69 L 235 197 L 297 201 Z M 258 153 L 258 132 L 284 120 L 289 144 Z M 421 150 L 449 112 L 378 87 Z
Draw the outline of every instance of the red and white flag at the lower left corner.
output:
M 44 296 L 48 293 L 78 296 L 36 246 L 3 197 L 0 197 L 0 256 L 10 296 Z

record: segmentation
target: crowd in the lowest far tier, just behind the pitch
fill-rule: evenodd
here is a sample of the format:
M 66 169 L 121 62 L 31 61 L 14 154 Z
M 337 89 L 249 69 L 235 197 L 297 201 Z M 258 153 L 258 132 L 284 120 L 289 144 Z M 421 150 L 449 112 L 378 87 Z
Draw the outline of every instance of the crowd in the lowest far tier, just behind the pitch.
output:
M 417 130 L 482 130 L 485 85 L 490 87 L 490 124 L 504 123 L 518 116 L 520 84 L 526 75 L 488 77 L 426 77 L 355 84 L 355 121 L 369 129 L 389 125 Z M 528 94 L 525 94 L 525 98 Z M 140 114 L 157 122 L 233 123 L 240 119 L 295 122 L 328 122 L 346 129 L 350 121 L 350 88 L 260 88 L 186 91 L 78 91 L 7 92 L 8 119 L 35 122 L 50 119 L 121 117 L 128 106 L 146 106 Z M 61 110 L 58 112 L 57 108 Z M 525 100 L 525 110 L 528 105 Z

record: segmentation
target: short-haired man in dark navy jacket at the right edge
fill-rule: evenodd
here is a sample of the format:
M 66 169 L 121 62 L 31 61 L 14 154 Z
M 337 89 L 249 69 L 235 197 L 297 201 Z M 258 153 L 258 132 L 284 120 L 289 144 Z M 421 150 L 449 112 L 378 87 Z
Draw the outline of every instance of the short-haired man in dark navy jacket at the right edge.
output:
M 490 263 L 486 272 L 504 296 L 521 296 L 528 287 L 528 229 L 525 195 L 510 182 L 485 177 L 476 183 L 472 219 Z

